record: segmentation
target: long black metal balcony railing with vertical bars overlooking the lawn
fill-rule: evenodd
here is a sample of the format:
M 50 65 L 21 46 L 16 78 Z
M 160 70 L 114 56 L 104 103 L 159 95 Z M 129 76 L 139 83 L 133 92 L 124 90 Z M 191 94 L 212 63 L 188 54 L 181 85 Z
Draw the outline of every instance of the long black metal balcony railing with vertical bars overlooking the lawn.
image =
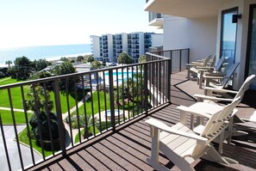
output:
M 184 54 L 189 50 L 147 53 L 145 63 L 0 86 L 3 170 L 66 156 L 77 144 L 170 103 L 173 61 L 183 65 Z M 7 129 L 16 143 L 9 143 Z

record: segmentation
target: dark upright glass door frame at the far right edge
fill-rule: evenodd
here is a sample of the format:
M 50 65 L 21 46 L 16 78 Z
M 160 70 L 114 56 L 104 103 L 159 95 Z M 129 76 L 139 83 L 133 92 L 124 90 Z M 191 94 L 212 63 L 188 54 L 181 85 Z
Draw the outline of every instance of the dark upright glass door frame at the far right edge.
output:
M 253 24 L 251 24 L 251 23 L 253 21 L 253 9 L 256 9 L 256 4 L 251 4 L 250 9 L 249 9 L 245 79 L 249 75 L 249 64 L 250 64 L 250 58 L 251 58 L 252 32 L 253 32 Z

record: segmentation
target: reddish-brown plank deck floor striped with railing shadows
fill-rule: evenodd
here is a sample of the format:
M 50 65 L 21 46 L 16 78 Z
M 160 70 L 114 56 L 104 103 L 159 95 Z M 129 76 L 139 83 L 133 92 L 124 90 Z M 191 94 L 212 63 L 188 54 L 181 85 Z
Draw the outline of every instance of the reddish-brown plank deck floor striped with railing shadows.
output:
M 133 121 L 119 126 L 116 132 L 108 132 L 80 144 L 67 151 L 67 156 L 55 156 L 30 170 L 153 170 L 147 163 L 150 156 L 151 137 L 147 118 L 164 121 L 167 125 L 178 122 L 178 105 L 190 106 L 196 100 L 192 95 L 203 93 L 197 82 L 185 79 L 185 72 L 172 75 L 172 105 L 162 108 L 149 116 L 140 116 Z M 248 116 L 256 108 L 253 93 L 249 92 L 245 101 L 237 107 L 240 116 Z M 234 158 L 239 164 L 221 165 L 215 162 L 198 160 L 196 170 L 256 170 L 256 133 L 250 131 L 247 136 L 236 137 L 232 144 L 224 144 L 223 155 Z M 216 145 L 217 148 L 217 145 Z M 172 170 L 178 170 L 165 156 L 160 162 Z

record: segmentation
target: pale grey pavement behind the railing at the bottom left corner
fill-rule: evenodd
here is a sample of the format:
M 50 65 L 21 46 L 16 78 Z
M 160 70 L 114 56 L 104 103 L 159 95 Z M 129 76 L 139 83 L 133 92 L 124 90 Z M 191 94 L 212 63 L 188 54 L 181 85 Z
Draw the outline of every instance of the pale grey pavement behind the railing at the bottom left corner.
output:
M 16 125 L 17 131 L 21 132 L 26 125 Z M 1 128 L 0 128 L 1 130 Z M 18 153 L 18 148 L 17 144 L 15 141 L 15 131 L 14 131 L 14 126 L 13 125 L 4 125 L 3 126 L 3 131 L 4 131 L 4 136 L 7 144 L 7 149 L 8 149 L 8 154 L 9 154 L 9 160 L 10 160 L 10 165 L 12 167 L 12 170 L 18 170 L 22 168 L 21 162 L 20 162 L 20 157 Z M 3 146 L 3 138 L 2 138 L 2 131 L 0 131 L 0 170 L 9 170 L 8 168 L 8 163 L 6 160 L 6 155 L 5 155 L 5 150 Z M 20 144 L 21 150 L 22 150 L 22 160 L 23 160 L 23 165 L 28 166 L 29 164 L 32 164 L 32 157 L 31 157 L 31 152 L 30 149 L 23 145 Z M 36 152 L 34 152 L 34 160 L 39 161 L 41 160 L 41 156 L 38 155 Z

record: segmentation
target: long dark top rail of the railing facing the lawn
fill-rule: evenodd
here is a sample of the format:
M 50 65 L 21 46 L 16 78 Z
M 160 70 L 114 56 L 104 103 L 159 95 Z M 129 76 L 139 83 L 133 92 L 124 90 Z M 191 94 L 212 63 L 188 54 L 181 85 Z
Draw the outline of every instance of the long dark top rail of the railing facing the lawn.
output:
M 154 54 L 151 54 L 151 55 L 156 56 Z M 170 60 L 170 58 L 165 58 L 165 57 L 161 57 L 161 56 L 159 56 L 159 57 L 163 58 L 163 59 L 160 60 L 161 62 Z M 51 77 L 48 77 L 48 78 L 41 78 L 41 79 L 36 79 L 36 80 L 24 81 L 24 82 L 16 82 L 16 83 L 11 83 L 11 84 L 7 84 L 7 85 L 2 85 L 2 86 L 0 86 L 0 90 L 10 89 L 10 88 L 15 88 L 15 87 L 21 87 L 21 86 L 30 85 L 30 84 L 38 84 L 38 83 L 41 83 L 41 82 L 51 82 L 51 81 L 55 81 L 55 80 L 59 80 L 59 79 L 65 79 L 65 78 L 75 77 L 75 76 L 83 76 L 83 75 L 86 75 L 86 74 L 93 74 L 93 73 L 97 73 L 97 72 L 103 72 L 103 71 L 109 71 L 109 70 L 118 70 L 118 69 L 122 69 L 122 68 L 140 66 L 140 65 L 143 65 L 143 64 L 153 64 L 153 63 L 158 63 L 158 62 L 159 61 L 149 61 L 149 62 L 138 63 L 138 64 L 126 64 L 126 65 L 122 65 L 122 66 L 113 66 L 111 68 L 105 68 L 105 69 L 99 69 L 99 70 L 90 70 L 90 71 L 66 74 L 66 75 L 61 75 L 61 76 L 51 76 Z

